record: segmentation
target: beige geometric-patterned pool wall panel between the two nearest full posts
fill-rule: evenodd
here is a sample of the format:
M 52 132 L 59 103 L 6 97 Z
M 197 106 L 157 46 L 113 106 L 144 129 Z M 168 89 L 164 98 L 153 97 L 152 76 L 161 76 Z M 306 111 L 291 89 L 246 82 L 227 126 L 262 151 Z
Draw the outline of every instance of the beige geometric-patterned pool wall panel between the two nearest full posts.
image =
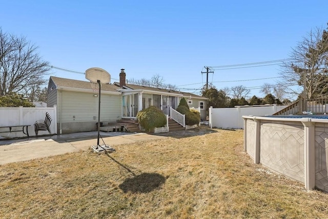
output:
M 300 122 L 261 121 L 260 163 L 304 182 L 304 127 Z

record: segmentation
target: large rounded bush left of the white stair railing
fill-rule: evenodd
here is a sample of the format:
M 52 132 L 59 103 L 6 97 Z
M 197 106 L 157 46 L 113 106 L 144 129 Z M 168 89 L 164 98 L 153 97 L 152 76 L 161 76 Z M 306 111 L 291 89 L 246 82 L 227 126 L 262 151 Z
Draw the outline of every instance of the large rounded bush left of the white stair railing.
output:
M 155 106 L 139 111 L 136 120 L 146 131 L 153 131 L 154 128 L 163 127 L 167 122 L 166 115 Z

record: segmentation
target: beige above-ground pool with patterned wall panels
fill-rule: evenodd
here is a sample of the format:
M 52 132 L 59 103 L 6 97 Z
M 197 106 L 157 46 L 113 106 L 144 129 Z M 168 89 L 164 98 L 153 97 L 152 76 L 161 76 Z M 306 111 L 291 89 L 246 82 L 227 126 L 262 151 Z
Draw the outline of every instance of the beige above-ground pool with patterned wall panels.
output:
M 256 164 L 328 192 L 328 116 L 242 116 L 244 150 Z

